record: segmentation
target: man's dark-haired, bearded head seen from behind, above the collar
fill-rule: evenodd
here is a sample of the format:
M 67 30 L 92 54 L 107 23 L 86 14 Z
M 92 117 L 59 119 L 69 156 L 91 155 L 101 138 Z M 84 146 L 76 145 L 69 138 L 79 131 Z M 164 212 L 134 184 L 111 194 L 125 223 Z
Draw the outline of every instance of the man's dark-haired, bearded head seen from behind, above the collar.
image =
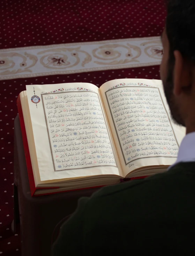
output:
M 169 0 L 160 77 L 173 119 L 195 131 L 195 0 Z

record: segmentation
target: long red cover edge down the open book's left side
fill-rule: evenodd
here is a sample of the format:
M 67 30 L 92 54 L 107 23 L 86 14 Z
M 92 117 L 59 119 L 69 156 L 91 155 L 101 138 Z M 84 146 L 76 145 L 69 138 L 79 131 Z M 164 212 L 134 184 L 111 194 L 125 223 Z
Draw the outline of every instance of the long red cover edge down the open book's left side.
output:
M 22 112 L 20 95 L 17 98 L 17 108 L 18 108 L 18 115 L 20 120 L 20 127 L 22 131 L 22 140 L 24 145 L 24 153 L 25 153 L 27 171 L 29 176 L 30 191 L 31 191 L 31 196 L 33 196 L 36 191 L 36 186 L 35 186 L 35 179 L 32 171 L 32 164 L 30 159 L 30 152 L 29 152 L 29 146 L 28 146 L 28 140 L 27 140 L 27 133 L 26 133 L 25 124 L 24 124 L 24 116 Z

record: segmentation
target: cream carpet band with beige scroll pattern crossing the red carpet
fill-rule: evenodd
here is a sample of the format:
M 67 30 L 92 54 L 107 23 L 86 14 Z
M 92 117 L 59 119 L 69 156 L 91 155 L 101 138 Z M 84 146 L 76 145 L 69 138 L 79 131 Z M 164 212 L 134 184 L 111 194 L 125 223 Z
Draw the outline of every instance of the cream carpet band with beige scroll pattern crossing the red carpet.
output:
M 159 65 L 159 37 L 0 50 L 0 80 Z

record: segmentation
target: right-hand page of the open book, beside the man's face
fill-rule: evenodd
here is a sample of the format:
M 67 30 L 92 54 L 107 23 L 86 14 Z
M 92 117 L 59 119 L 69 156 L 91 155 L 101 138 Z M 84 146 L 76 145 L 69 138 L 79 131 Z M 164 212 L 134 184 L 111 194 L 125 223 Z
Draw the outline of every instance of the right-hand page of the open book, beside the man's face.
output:
M 176 161 L 185 128 L 172 120 L 161 80 L 115 79 L 100 94 L 125 175 Z

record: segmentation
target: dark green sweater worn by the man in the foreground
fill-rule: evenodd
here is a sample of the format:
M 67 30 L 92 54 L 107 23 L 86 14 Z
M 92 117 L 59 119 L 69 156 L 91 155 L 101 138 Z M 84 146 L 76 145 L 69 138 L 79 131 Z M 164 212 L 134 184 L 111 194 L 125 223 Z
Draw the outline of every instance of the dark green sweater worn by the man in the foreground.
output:
M 195 162 L 81 198 L 53 256 L 194 255 Z

